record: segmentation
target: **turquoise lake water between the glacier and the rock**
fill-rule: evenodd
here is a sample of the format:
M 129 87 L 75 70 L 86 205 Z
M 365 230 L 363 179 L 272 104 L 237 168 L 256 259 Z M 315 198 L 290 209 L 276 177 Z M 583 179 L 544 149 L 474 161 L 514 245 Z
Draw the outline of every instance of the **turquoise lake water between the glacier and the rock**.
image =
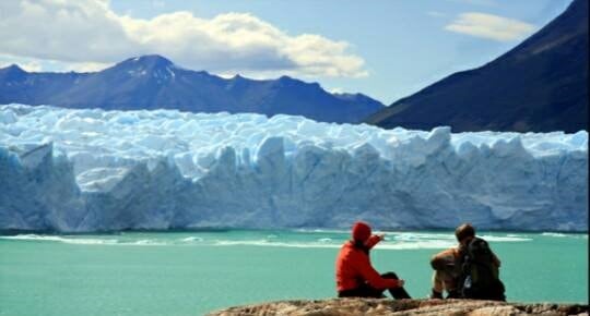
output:
M 486 233 L 511 302 L 588 304 L 588 234 Z M 0 236 L 0 315 L 203 315 L 273 300 L 335 296 L 340 231 L 130 232 Z M 379 271 L 430 289 L 449 232 L 387 232 Z

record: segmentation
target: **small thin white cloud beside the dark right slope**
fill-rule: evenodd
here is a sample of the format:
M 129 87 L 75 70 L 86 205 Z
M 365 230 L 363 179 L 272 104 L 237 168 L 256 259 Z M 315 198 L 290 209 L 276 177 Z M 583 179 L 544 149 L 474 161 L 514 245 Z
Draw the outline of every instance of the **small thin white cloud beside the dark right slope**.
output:
M 468 12 L 459 15 L 445 29 L 498 41 L 521 39 L 534 31 L 534 25 L 498 15 Z

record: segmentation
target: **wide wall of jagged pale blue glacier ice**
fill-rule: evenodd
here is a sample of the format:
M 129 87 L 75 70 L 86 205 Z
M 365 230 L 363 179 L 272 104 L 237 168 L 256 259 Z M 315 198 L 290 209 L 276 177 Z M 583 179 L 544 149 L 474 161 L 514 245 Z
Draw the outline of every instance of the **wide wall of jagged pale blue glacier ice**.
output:
M 0 230 L 588 229 L 588 133 L 0 106 Z

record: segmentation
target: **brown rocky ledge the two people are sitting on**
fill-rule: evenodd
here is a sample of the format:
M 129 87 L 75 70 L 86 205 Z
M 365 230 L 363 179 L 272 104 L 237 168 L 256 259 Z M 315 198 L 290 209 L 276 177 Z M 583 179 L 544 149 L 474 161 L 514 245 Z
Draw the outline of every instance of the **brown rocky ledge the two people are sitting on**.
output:
M 333 299 L 321 301 L 281 301 L 259 305 L 229 307 L 210 316 L 284 315 L 588 315 L 588 305 L 526 304 L 472 300 L 378 300 Z

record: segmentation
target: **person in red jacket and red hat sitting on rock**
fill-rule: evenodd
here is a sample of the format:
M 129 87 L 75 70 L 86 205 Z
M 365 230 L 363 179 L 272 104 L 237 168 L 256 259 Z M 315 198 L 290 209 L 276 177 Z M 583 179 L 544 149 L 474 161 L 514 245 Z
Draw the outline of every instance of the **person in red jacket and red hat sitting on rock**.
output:
M 352 240 L 344 243 L 335 262 L 339 297 L 384 297 L 389 290 L 394 299 L 410 299 L 404 280 L 393 272 L 379 275 L 370 265 L 369 251 L 382 239 L 382 234 L 371 235 L 366 222 L 354 223 Z

